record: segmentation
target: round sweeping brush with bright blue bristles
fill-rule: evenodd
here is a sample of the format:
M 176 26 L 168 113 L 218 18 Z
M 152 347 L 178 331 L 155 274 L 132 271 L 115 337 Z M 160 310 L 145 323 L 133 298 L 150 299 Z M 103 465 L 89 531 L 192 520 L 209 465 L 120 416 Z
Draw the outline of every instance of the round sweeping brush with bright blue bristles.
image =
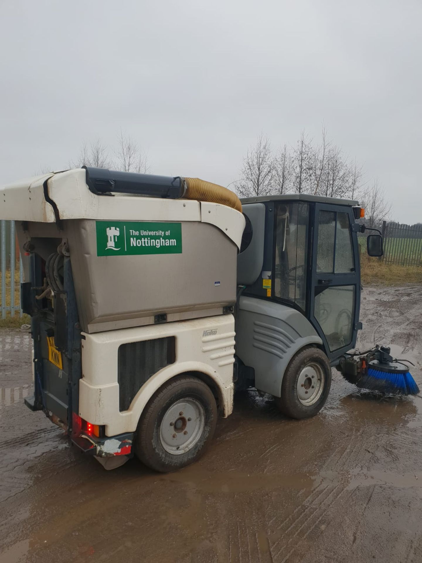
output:
M 417 395 L 419 387 L 408 371 L 408 367 L 398 361 L 380 362 L 373 360 L 366 373 L 355 385 L 369 391 L 380 391 L 388 395 Z

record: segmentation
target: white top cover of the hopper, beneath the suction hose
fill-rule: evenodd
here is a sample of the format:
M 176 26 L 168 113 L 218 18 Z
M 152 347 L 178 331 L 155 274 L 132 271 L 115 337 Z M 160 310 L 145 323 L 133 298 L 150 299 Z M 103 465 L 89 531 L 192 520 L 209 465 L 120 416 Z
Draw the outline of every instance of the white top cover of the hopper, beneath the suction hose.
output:
M 48 196 L 55 202 L 61 220 L 202 221 L 221 229 L 240 248 L 245 218 L 236 209 L 189 199 L 96 195 L 89 191 L 82 168 L 2 187 L 0 219 L 54 223 L 53 208 L 44 198 L 46 180 Z

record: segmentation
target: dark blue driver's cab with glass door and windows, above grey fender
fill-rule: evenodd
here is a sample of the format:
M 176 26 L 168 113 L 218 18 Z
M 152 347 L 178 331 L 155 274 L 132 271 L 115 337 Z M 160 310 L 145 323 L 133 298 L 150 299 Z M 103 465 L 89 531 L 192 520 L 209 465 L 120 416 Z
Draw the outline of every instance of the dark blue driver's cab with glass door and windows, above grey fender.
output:
M 259 248 L 239 255 L 240 283 L 245 263 L 254 266 L 243 296 L 300 311 L 331 360 L 354 346 L 359 328 L 361 225 L 354 216 L 356 206 L 352 200 L 302 194 L 243 200 L 252 233 L 257 230 L 263 239 Z

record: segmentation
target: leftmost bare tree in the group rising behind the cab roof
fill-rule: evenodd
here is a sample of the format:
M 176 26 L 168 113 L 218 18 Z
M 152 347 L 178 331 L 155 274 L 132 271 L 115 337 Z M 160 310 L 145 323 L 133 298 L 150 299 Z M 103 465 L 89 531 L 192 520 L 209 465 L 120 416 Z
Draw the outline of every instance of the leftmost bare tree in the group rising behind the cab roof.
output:
M 270 141 L 261 133 L 243 158 L 240 180 L 236 185 L 237 193 L 244 198 L 273 193 L 275 168 Z

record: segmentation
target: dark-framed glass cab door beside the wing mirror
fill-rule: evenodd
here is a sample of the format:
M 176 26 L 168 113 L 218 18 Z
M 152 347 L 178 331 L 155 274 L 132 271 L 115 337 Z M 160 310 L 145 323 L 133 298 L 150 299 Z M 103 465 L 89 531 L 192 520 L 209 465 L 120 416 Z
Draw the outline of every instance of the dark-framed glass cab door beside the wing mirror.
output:
M 354 347 L 360 307 L 360 265 L 352 209 L 315 204 L 309 318 L 330 360 Z

